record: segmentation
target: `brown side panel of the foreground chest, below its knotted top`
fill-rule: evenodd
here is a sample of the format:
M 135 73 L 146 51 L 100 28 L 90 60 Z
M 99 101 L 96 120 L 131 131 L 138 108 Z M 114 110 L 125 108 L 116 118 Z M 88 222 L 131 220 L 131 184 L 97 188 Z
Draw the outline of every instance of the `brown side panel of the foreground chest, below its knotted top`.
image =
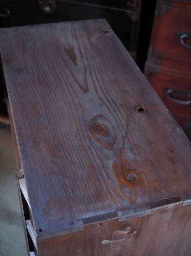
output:
M 190 232 L 191 205 L 179 204 L 149 216 L 110 220 L 84 227 L 83 232 L 40 241 L 38 255 L 191 256 Z

